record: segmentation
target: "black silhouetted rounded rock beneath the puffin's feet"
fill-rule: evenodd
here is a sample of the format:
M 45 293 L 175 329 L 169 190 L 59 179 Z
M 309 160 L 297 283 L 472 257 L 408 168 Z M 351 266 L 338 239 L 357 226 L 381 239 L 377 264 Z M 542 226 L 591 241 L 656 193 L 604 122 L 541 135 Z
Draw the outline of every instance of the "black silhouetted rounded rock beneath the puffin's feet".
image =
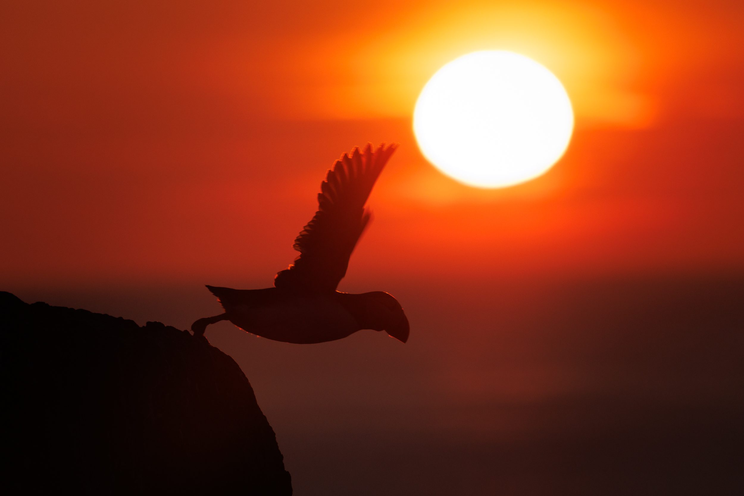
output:
M 7 292 L 0 335 L 5 489 L 292 494 L 246 376 L 205 339 Z

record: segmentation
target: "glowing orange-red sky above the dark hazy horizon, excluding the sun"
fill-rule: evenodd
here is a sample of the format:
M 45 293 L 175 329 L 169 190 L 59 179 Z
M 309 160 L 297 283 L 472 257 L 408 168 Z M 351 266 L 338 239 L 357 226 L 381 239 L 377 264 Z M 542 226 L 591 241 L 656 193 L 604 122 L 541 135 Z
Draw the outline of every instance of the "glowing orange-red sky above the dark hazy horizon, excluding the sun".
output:
M 4 9 L 8 283 L 269 283 L 293 257 L 324 169 L 366 141 L 403 146 L 374 193 L 353 277 L 431 264 L 456 274 L 472 260 L 485 274 L 743 268 L 742 7 Z M 577 112 L 557 167 L 506 190 L 443 178 L 411 133 L 428 77 L 487 48 L 548 65 Z

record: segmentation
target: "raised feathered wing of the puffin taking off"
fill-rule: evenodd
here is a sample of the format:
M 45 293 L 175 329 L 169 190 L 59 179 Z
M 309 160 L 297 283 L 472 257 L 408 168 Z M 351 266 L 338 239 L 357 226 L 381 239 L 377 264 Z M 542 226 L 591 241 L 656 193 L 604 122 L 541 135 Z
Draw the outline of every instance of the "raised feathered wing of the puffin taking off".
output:
M 346 274 L 349 257 L 370 219 L 365 202 L 397 144 L 364 152 L 359 148 L 328 171 L 318 193 L 318 211 L 295 239 L 300 256 L 280 271 L 274 286 L 295 291 L 333 292 Z

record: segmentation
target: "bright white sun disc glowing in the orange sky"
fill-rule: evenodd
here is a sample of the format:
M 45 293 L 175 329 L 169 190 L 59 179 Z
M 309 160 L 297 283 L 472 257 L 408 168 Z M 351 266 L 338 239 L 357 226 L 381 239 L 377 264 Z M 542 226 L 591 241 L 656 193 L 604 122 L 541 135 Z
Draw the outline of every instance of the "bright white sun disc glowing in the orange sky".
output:
M 574 112 L 551 71 L 510 51 L 477 51 L 440 68 L 414 109 L 423 155 L 475 187 L 542 175 L 565 152 Z

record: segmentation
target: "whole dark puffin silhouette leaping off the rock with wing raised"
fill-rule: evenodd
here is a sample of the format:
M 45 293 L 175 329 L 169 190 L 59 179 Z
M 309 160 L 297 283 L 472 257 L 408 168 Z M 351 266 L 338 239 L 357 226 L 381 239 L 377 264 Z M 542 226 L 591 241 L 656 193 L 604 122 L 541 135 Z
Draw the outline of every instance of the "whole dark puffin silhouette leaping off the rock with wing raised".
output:
M 346 338 L 362 329 L 408 340 L 408 318 L 391 294 L 336 291 L 349 258 L 370 221 L 365 203 L 397 144 L 371 144 L 343 154 L 321 183 L 318 211 L 295 239 L 300 252 L 280 271 L 274 287 L 231 289 L 207 286 L 225 313 L 191 324 L 195 336 L 219 321 L 286 343 L 312 344 Z

